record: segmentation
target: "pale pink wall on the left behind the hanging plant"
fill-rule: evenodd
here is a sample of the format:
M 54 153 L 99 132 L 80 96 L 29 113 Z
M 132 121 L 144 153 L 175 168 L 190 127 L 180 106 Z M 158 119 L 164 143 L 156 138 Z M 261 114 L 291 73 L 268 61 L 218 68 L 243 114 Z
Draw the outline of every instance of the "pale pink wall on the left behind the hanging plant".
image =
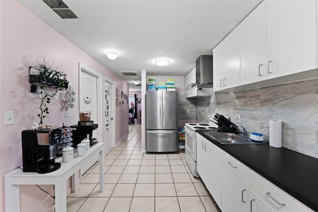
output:
M 93 60 L 85 52 L 64 38 L 46 23 L 38 19 L 16 1 L 0 1 L 0 211 L 4 211 L 3 175 L 22 165 L 21 131 L 39 122 L 39 105 L 32 102 L 28 67 L 36 65 L 38 54 L 65 65 L 65 73 L 79 100 L 79 63 L 100 73 L 116 83 L 128 94 L 128 84 Z M 44 125 L 59 127 L 62 123 L 72 125 L 78 121 L 78 102 L 66 117 L 64 108 L 58 102 L 50 106 L 50 114 Z M 15 124 L 4 126 L 4 111 L 14 111 Z M 116 107 L 116 141 L 128 133 L 128 108 Z M 101 126 L 100 126 L 101 127 Z M 50 190 L 48 190 L 50 191 Z M 51 190 L 51 194 L 54 192 Z M 23 186 L 20 194 L 21 211 L 46 211 L 52 201 L 35 186 Z

